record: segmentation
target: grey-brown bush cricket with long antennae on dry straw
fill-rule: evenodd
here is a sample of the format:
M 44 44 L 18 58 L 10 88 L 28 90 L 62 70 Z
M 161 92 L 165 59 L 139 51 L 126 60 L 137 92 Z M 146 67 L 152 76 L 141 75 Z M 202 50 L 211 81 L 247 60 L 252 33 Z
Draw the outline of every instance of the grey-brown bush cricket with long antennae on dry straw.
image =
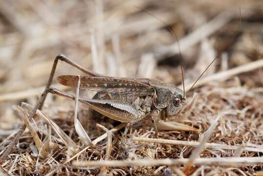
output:
M 226 48 L 228 48 L 230 44 L 232 44 L 233 39 L 239 31 L 239 28 L 240 25 L 229 44 L 227 44 L 218 53 L 218 55 L 209 66 L 211 66 L 214 61 L 221 55 L 221 53 Z M 175 33 L 172 30 L 170 30 L 170 32 L 178 41 Z M 156 135 L 159 119 L 161 117 L 169 118 L 176 115 L 185 101 L 184 81 L 183 90 L 181 90 L 174 85 L 167 84 L 156 79 L 107 77 L 91 72 L 61 54 L 58 55 L 54 60 L 46 88 L 37 104 L 35 105 L 34 109 L 30 112 L 28 117 L 29 121 L 34 117 L 36 110 L 41 110 L 47 93 L 57 94 L 75 100 L 75 97 L 73 95 L 67 94 L 66 92 L 63 92 L 56 88 L 50 88 L 59 60 L 76 67 L 77 69 L 88 75 L 80 76 L 80 88 L 99 89 L 92 99 L 79 98 L 79 102 L 87 105 L 90 109 L 95 110 L 102 115 L 120 122 L 128 123 L 129 125 L 143 121 L 145 119 L 151 119 L 154 124 Z M 183 80 L 181 56 L 180 65 Z M 208 69 L 209 66 L 207 66 L 207 68 L 202 72 L 197 81 L 200 79 L 200 77 Z M 79 76 L 62 75 L 57 77 L 57 81 L 64 86 L 76 88 L 78 85 Z M 195 86 L 197 81 L 193 84 L 191 89 Z M 23 124 L 14 140 L 1 155 L 0 160 L 4 159 L 10 153 L 12 148 L 14 148 L 25 128 L 26 126 L 25 124 Z M 127 128 L 125 131 L 127 131 Z

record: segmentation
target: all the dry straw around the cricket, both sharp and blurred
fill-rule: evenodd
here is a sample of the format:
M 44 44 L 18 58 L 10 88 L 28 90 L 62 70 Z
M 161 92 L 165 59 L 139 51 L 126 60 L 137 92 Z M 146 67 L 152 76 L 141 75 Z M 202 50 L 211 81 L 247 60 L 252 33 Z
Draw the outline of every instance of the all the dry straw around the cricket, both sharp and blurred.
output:
M 236 38 L 189 90 L 237 31 L 237 5 Z M 1 1 L 0 157 L 23 123 L 26 130 L 0 160 L 0 175 L 263 175 L 262 9 L 262 0 Z M 179 88 L 181 56 L 184 106 L 161 119 L 157 138 L 151 121 L 125 134 L 126 124 L 78 104 L 95 91 L 54 81 L 76 94 L 75 104 L 48 95 L 29 120 L 60 53 L 107 76 Z M 81 73 L 59 62 L 62 74 Z

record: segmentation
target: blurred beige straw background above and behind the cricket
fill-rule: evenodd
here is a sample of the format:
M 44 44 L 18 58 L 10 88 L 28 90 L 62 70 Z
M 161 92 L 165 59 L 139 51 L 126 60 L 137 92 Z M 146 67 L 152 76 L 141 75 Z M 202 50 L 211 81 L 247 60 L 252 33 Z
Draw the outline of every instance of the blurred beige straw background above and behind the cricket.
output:
M 235 32 L 207 74 L 263 58 L 262 0 L 1 0 L 0 129 L 17 128 L 20 118 L 12 105 L 36 103 L 61 53 L 107 76 L 180 85 L 178 44 L 167 27 L 179 39 L 186 84 L 197 79 Z M 56 75 L 61 74 L 82 73 L 60 62 Z M 263 77 L 256 80 L 250 86 L 261 84 Z M 56 80 L 53 87 L 66 89 Z M 65 102 L 48 96 L 44 109 L 66 111 Z

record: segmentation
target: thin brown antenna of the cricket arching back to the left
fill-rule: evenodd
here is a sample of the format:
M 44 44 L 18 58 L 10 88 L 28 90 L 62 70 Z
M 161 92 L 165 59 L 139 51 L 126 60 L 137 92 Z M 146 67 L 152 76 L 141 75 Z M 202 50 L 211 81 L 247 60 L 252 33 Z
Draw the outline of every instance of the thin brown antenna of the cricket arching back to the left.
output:
M 179 57 L 180 57 L 180 66 L 181 66 L 181 73 L 182 73 L 182 80 L 183 80 L 183 98 L 185 97 L 185 88 L 184 88 L 184 77 L 183 77 L 183 61 L 182 61 L 182 55 L 181 55 L 181 49 L 180 49 L 180 43 L 179 43 L 179 40 L 178 40 L 178 37 L 176 36 L 175 32 L 173 31 L 173 29 L 171 29 L 168 24 L 166 22 L 164 22 L 163 20 L 161 20 L 160 18 L 154 16 L 152 13 L 148 12 L 147 10 L 141 8 L 141 7 L 138 7 L 138 6 L 135 6 L 139 9 L 141 9 L 142 11 L 148 13 L 149 15 L 153 16 L 154 18 L 156 18 L 157 20 L 159 20 L 160 22 L 162 22 L 164 25 L 165 25 L 165 28 L 169 30 L 169 32 L 175 37 L 176 41 L 177 41 L 177 44 L 178 44 L 178 50 L 179 50 Z

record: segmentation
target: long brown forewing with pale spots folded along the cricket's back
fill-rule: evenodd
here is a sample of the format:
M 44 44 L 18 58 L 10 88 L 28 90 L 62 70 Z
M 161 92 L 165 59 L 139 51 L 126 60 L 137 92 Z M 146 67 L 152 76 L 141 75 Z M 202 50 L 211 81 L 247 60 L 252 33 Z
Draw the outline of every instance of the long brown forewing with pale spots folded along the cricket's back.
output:
M 77 88 L 79 76 L 61 75 L 57 81 L 67 87 Z M 80 76 L 80 88 L 151 88 L 148 79 L 120 78 L 120 77 L 89 77 Z

